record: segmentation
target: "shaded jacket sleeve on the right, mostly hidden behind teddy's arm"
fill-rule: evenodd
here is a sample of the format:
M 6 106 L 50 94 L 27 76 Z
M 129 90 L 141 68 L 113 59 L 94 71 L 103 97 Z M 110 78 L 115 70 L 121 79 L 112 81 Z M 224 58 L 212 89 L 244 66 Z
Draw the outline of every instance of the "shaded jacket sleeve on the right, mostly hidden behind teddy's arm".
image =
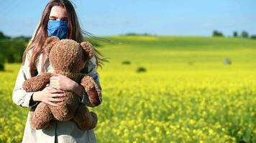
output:
M 86 61 L 86 67 L 85 71 L 88 76 L 92 77 L 96 84 L 99 86 L 99 89 L 101 89 L 101 84 L 99 82 L 99 73 L 97 72 L 97 66 L 96 66 L 96 59 L 95 56 L 93 56 L 92 59 Z M 100 101 L 101 101 L 101 97 Z M 91 104 L 90 100 L 88 99 L 88 94 L 86 94 L 85 89 L 83 89 L 83 99 L 80 101 L 82 104 L 86 104 L 88 107 L 94 107 L 93 104 Z M 101 101 L 102 102 L 102 101 Z

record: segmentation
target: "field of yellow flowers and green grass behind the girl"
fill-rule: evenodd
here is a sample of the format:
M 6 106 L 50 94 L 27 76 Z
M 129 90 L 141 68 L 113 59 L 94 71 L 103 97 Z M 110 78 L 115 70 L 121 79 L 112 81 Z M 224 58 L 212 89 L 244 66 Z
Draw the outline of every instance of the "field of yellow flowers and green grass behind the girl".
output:
M 98 69 L 103 103 L 90 108 L 98 142 L 256 142 L 256 40 L 106 38 L 116 44 L 98 48 L 110 58 Z M 20 65 L 0 72 L 2 142 L 22 140 L 29 111 L 11 97 Z

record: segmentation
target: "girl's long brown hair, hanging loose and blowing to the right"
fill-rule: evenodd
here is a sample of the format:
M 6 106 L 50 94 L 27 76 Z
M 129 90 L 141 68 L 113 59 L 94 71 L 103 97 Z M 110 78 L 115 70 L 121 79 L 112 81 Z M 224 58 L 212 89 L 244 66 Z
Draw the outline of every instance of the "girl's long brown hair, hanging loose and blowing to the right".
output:
M 40 53 L 44 53 L 43 44 L 47 39 L 47 21 L 49 20 L 52 6 L 62 6 L 68 14 L 68 39 L 73 39 L 75 41 L 78 41 L 78 43 L 81 43 L 83 41 L 83 33 L 85 33 L 85 31 L 81 29 L 73 4 L 68 0 L 51 0 L 45 6 L 44 11 L 42 12 L 40 23 L 37 25 L 37 28 L 35 29 L 35 32 L 32 36 L 32 39 L 29 40 L 27 49 L 25 49 L 22 57 L 22 65 L 23 65 L 27 52 L 30 49 L 32 50 L 32 54 L 29 59 L 29 68 L 30 68 L 29 72 L 31 77 L 36 76 L 37 67 L 35 63 L 37 62 L 38 56 L 40 56 Z M 103 57 L 101 52 L 98 51 L 95 47 L 94 47 L 94 51 L 95 51 L 97 66 L 102 66 L 103 61 L 108 61 L 106 58 Z M 41 65 L 42 73 L 45 72 L 45 68 L 44 68 L 45 61 L 46 61 L 45 59 L 46 59 L 46 55 L 43 54 L 42 65 Z

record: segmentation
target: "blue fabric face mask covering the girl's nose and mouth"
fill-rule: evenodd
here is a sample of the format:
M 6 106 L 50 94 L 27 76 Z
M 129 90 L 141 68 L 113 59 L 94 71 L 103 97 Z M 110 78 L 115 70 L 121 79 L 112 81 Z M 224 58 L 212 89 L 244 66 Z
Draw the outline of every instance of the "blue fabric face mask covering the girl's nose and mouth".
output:
M 59 39 L 66 39 L 68 36 L 68 21 L 49 20 L 47 33 L 48 36 L 58 36 Z

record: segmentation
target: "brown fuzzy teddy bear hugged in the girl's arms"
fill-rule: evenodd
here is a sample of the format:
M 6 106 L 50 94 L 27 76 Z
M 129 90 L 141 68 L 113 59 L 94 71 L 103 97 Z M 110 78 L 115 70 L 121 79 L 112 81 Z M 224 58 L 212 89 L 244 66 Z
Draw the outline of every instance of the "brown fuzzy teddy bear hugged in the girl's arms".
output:
M 97 106 L 101 103 L 101 89 L 86 74 L 80 71 L 86 61 L 93 58 L 93 46 L 88 41 L 81 44 L 72 39 L 58 39 L 50 36 L 44 44 L 45 54 L 48 56 L 53 73 L 62 74 L 81 84 L 88 94 L 91 104 Z M 22 87 L 26 92 L 37 92 L 44 89 L 50 83 L 52 73 L 42 73 L 36 77 L 27 79 Z M 52 106 L 40 102 L 29 111 L 29 123 L 34 129 L 43 129 L 50 125 L 52 119 L 68 121 L 73 119 L 80 129 L 93 129 L 98 122 L 97 115 L 89 112 L 88 108 L 79 102 L 79 97 L 74 92 L 65 91 L 63 102 L 55 102 L 58 106 Z

